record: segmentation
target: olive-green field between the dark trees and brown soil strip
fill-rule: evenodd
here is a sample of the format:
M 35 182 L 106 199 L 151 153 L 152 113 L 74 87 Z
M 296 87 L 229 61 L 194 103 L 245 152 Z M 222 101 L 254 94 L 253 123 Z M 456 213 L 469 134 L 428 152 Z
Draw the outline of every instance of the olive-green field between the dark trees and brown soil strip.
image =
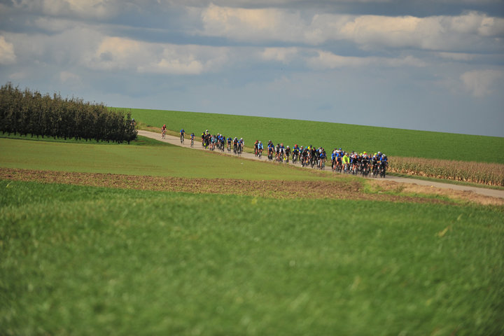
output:
M 160 144 L 159 141 L 155 141 Z M 329 172 L 294 169 L 267 162 L 188 148 L 71 144 L 0 138 L 0 167 L 65 172 L 114 173 L 207 179 L 301 180 L 334 178 Z

